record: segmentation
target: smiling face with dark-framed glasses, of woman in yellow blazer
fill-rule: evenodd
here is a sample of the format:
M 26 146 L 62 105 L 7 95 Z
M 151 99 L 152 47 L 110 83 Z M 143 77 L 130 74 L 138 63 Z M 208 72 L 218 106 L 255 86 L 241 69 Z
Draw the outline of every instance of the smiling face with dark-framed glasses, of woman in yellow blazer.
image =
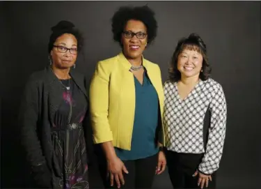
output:
M 147 28 L 145 24 L 139 20 L 129 20 L 122 33 L 122 48 L 127 59 L 139 59 L 142 56 L 143 50 L 147 45 Z M 132 36 L 136 33 L 137 36 Z M 144 38 L 143 38 L 144 37 Z

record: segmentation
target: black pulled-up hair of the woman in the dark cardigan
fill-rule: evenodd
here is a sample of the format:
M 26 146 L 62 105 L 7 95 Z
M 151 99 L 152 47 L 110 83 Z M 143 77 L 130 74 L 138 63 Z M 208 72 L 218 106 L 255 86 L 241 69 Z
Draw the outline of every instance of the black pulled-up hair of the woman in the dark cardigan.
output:
M 50 53 L 52 48 L 54 47 L 54 42 L 56 39 L 60 36 L 62 36 L 64 33 L 70 33 L 74 35 L 74 37 L 77 39 L 77 50 L 78 52 L 81 51 L 81 48 L 84 45 L 84 38 L 82 37 L 80 31 L 75 28 L 74 24 L 72 22 L 62 20 L 58 22 L 52 29 L 52 34 L 49 38 L 49 44 L 48 44 L 48 52 Z

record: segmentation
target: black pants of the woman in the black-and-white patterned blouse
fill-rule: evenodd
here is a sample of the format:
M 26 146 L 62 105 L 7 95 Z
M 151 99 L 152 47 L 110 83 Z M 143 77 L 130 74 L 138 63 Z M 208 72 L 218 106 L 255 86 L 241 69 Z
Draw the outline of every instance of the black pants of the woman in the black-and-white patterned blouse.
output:
M 168 174 L 173 188 L 200 188 L 198 186 L 198 176 L 192 175 L 196 172 L 204 154 L 176 153 L 165 151 Z M 207 188 L 216 187 L 216 172 L 212 175 L 212 181 L 209 181 Z M 204 185 L 204 188 L 205 185 Z

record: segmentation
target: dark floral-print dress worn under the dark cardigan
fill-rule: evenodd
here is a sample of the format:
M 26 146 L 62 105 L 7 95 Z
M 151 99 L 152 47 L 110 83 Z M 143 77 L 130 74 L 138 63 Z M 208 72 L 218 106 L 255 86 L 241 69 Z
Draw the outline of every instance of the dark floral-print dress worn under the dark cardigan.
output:
M 54 116 L 52 144 L 58 160 L 61 188 L 88 189 L 86 141 L 82 121 L 87 101 L 73 80 L 61 80 L 70 90 L 63 92 L 63 103 Z

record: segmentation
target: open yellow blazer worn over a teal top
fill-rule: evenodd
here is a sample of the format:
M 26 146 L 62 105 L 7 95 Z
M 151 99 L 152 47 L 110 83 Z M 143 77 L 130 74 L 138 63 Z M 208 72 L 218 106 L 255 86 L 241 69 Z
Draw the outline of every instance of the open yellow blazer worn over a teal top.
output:
M 157 91 L 162 118 L 164 91 L 160 68 L 145 59 L 143 59 L 143 66 Z M 122 52 L 97 63 L 90 82 L 90 119 L 95 144 L 112 141 L 113 146 L 120 149 L 131 149 L 135 84 L 130 68 L 131 64 Z M 162 119 L 161 126 L 164 138 Z

